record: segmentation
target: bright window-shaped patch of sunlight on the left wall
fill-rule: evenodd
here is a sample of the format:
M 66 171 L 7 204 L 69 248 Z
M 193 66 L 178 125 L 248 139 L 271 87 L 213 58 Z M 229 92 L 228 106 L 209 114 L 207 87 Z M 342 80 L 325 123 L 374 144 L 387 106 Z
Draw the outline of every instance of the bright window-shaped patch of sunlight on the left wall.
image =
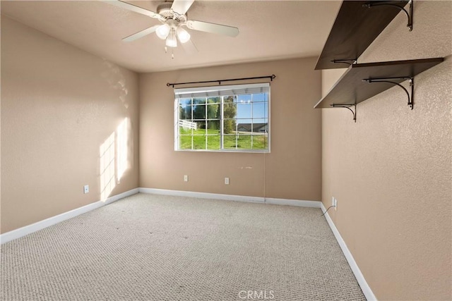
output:
M 124 118 L 116 131 L 107 137 L 99 147 L 100 153 L 100 200 L 105 202 L 127 169 L 131 168 L 129 161 L 129 133 L 131 123 Z

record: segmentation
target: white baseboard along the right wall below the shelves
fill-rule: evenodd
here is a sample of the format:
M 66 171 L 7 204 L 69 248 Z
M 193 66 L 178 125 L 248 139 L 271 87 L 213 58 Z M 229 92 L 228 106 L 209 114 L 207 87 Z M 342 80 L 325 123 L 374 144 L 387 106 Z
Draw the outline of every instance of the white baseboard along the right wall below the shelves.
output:
M 321 203 L 321 209 L 323 212 L 326 211 L 326 208 L 323 206 L 323 203 Z M 348 250 L 347 245 L 345 244 L 345 241 L 343 240 L 342 236 L 340 236 L 340 233 L 338 231 L 338 228 L 333 223 L 333 220 L 329 216 L 328 212 L 325 214 L 326 221 L 328 222 L 328 225 L 331 228 L 331 231 L 333 231 L 333 234 L 338 240 L 340 249 L 342 249 L 342 252 L 345 255 L 345 258 L 347 259 L 348 264 L 350 265 L 350 268 L 353 271 L 353 274 L 355 274 L 355 278 L 358 281 L 359 286 L 361 287 L 362 293 L 366 297 L 367 300 L 376 300 L 376 297 L 374 293 L 372 292 L 369 284 L 367 284 L 366 279 L 364 278 L 364 275 L 361 273 L 361 270 L 359 269 L 357 263 L 355 262 L 355 259 L 353 258 L 352 253 L 350 250 Z

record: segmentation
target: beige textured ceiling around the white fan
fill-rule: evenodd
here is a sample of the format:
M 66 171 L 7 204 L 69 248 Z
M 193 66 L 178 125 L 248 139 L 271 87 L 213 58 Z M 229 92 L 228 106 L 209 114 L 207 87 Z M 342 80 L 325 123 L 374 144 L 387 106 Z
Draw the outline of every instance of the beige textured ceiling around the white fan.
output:
M 162 1 L 129 1 L 156 11 Z M 1 13 L 47 35 L 137 72 L 318 56 L 341 1 L 195 1 L 187 15 L 239 27 L 237 37 L 189 30 L 198 52 L 165 54 L 153 33 L 123 37 L 159 21 L 102 1 L 1 1 Z

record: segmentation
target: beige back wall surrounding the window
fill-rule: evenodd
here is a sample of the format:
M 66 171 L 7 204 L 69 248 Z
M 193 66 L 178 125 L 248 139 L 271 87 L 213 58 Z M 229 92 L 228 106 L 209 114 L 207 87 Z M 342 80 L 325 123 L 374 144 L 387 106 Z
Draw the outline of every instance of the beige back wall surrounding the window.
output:
M 292 59 L 141 75 L 140 186 L 320 200 L 321 111 L 313 106 L 321 95 L 321 73 L 314 71 L 315 63 Z M 273 73 L 270 154 L 174 152 L 174 94 L 167 82 Z

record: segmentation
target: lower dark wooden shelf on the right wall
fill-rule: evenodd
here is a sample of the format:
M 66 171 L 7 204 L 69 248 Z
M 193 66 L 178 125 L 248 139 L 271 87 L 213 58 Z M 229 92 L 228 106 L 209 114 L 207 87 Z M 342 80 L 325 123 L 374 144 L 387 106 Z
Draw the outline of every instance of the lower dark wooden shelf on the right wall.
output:
M 359 104 L 359 102 L 374 97 L 376 94 L 396 85 L 388 82 L 369 83 L 363 80 L 392 78 L 391 81 L 400 83 L 408 78 L 414 78 L 415 75 L 442 61 L 444 61 L 443 58 L 434 58 L 351 65 L 314 108 L 331 108 L 333 104 Z

